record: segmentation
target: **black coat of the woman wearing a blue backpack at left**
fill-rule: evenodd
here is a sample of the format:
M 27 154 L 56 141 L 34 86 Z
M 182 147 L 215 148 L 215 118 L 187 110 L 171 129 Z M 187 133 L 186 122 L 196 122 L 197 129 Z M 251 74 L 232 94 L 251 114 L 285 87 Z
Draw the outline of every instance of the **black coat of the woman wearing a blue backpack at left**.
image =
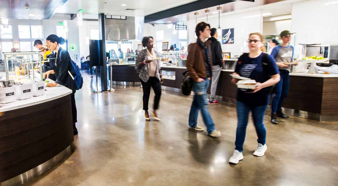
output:
M 61 53 L 61 57 L 59 53 Z M 68 71 L 70 72 L 72 71 L 72 64 L 68 51 L 60 47 L 59 51 L 56 51 L 54 54 L 54 57 L 56 56 L 57 58 L 55 59 L 55 70 L 54 70 L 56 76 L 55 83 L 63 85 L 71 89 L 73 92 L 75 92 L 76 91 L 75 81 L 68 73 Z

